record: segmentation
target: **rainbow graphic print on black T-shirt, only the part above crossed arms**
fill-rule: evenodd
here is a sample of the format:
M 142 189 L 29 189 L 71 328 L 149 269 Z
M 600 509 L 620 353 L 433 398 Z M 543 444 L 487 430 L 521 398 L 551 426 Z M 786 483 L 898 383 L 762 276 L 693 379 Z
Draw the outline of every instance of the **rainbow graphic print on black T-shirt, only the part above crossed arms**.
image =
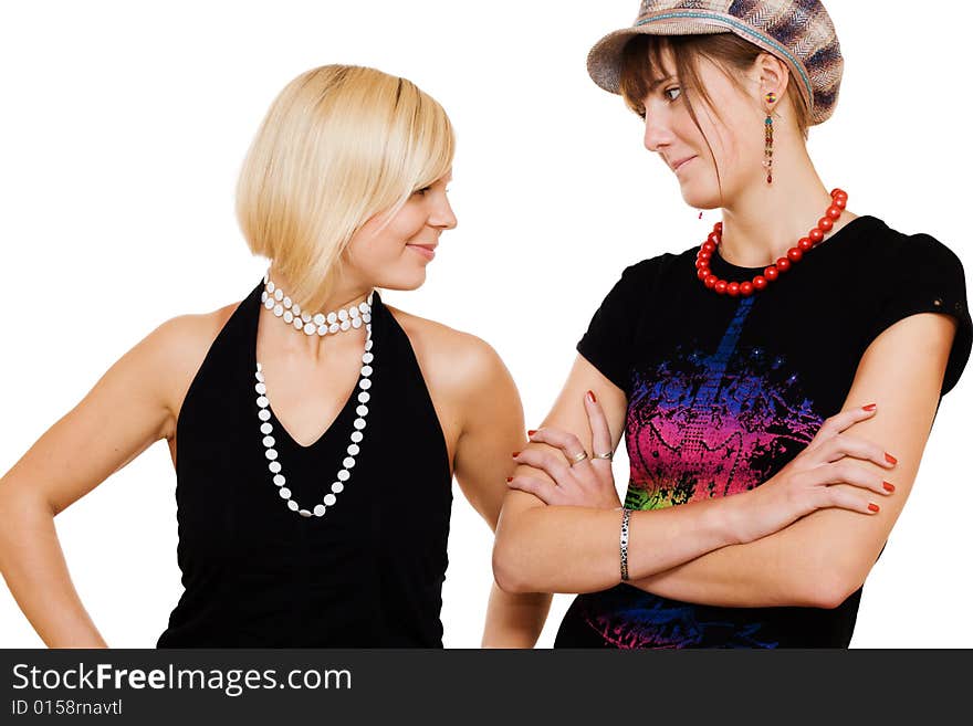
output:
M 632 373 L 626 422 L 626 505 L 658 509 L 752 490 L 789 461 L 824 420 L 787 361 L 737 347 L 753 298 L 716 351 L 681 354 Z

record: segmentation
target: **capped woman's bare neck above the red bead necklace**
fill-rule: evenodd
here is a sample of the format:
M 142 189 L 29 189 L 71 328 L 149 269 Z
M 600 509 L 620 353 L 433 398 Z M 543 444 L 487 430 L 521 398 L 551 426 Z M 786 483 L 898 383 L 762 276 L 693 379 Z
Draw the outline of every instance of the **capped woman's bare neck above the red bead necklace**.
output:
M 760 183 L 751 183 L 723 208 L 720 256 L 731 264 L 761 267 L 786 256 L 830 206 L 830 193 L 804 144 L 781 151 L 773 185 L 766 183 L 762 172 Z

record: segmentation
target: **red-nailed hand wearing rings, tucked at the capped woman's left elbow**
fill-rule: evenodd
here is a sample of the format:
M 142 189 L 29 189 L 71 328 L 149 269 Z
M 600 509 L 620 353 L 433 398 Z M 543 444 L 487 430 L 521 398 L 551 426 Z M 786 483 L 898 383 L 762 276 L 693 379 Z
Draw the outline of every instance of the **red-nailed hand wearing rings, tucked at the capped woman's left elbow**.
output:
M 515 454 L 515 462 L 545 472 L 554 483 L 514 476 L 508 481 L 511 488 L 530 492 L 544 504 L 608 509 L 621 506 L 611 474 L 611 432 L 592 391 L 585 394 L 585 411 L 592 428 L 590 446 L 586 449 L 576 435 L 559 429 L 529 432 L 532 442 L 550 444 L 559 449 L 563 455 L 536 449 Z M 585 455 L 584 459 L 580 454 Z

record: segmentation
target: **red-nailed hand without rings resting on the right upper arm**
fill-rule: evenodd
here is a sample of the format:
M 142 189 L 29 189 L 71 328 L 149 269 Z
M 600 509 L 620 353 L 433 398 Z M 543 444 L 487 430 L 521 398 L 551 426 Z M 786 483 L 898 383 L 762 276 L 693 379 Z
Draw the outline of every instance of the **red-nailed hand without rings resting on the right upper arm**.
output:
M 878 444 L 843 433 L 873 417 L 876 409 L 871 404 L 827 419 L 804 451 L 765 484 L 744 495 L 752 501 L 740 509 L 741 541 L 773 534 L 816 509 L 836 507 L 877 514 L 880 507 L 875 495 L 889 496 L 896 487 L 851 460 L 868 461 L 886 470 L 898 462 Z M 836 484 L 850 484 L 861 491 L 833 486 Z

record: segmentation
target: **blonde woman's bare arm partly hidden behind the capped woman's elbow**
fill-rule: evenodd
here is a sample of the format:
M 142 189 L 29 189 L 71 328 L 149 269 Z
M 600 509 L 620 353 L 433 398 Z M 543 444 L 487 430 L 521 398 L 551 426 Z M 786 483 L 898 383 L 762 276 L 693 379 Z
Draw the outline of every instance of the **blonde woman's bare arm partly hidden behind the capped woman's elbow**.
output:
M 524 413 L 513 378 L 496 353 L 468 339 L 462 390 L 464 420 L 457 442 L 456 477 L 473 508 L 496 529 L 513 473 L 510 454 L 524 445 Z M 486 607 L 484 648 L 533 648 L 541 634 L 551 596 L 512 595 L 494 583 Z

